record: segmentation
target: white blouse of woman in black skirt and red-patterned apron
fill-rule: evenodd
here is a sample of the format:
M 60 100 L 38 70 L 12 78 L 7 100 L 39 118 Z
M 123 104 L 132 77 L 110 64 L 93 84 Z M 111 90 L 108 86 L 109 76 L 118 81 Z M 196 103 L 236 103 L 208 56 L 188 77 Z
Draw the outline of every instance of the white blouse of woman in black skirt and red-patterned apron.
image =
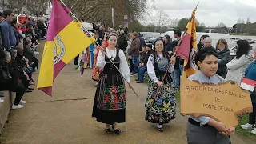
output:
M 107 57 L 111 58 L 115 58 L 117 55 L 117 50 L 109 50 L 108 48 L 106 48 L 106 54 Z M 119 50 L 119 58 L 120 58 L 120 66 L 119 66 L 119 70 L 122 73 L 122 76 L 124 78 L 126 78 L 126 81 L 130 83 L 130 69 L 129 66 L 127 64 L 127 60 L 126 60 L 126 56 L 124 54 L 124 52 L 120 49 Z M 96 66 L 100 67 L 101 69 L 104 68 L 106 62 L 105 62 L 105 55 L 102 54 L 102 52 L 98 53 L 98 57 L 97 57 L 97 64 Z

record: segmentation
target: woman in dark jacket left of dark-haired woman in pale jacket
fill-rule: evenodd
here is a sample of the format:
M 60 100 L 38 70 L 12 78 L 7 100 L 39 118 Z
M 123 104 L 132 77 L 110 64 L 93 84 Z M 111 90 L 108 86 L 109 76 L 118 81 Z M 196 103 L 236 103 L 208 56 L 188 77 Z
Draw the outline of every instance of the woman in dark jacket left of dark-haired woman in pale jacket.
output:
M 218 50 L 218 71 L 216 74 L 225 78 L 227 74 L 226 64 L 232 60 L 230 50 L 228 49 L 225 39 L 218 40 L 216 50 Z

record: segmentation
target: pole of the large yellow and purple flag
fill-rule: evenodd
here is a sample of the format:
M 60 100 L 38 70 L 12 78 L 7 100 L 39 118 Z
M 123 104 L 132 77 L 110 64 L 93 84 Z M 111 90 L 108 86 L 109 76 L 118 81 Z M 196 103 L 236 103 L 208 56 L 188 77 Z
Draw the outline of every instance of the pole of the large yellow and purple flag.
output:
M 59 2 L 62 2 L 62 5 L 65 6 L 65 7 L 67 7 L 66 4 L 65 4 L 62 0 L 59 0 Z M 72 16 L 75 18 L 75 20 L 77 20 L 78 22 L 80 22 L 80 21 L 78 20 L 78 18 L 72 13 L 71 10 L 70 10 L 70 14 L 72 14 Z M 90 37 L 92 37 L 92 35 L 90 34 L 90 32 L 89 32 L 84 26 L 82 26 L 82 28 L 83 28 L 84 30 L 86 30 L 86 33 L 89 34 Z M 101 49 L 103 49 L 102 46 L 100 46 L 97 41 L 95 41 L 95 43 L 96 43 Z M 118 69 L 117 66 L 115 66 L 115 64 L 114 64 L 114 62 L 111 60 L 111 58 L 109 58 L 109 57 L 107 56 L 107 54 L 105 53 L 105 51 L 99 49 L 98 46 L 97 46 L 97 49 L 100 50 L 100 51 L 102 52 L 102 54 L 106 55 L 106 58 L 108 58 L 108 59 L 110 60 L 110 62 L 114 65 L 114 67 L 115 67 L 115 68 L 118 70 L 118 72 L 122 75 L 121 71 Z M 126 78 L 125 78 L 123 75 L 122 75 L 122 78 L 128 83 L 128 85 L 130 86 L 130 89 L 133 90 L 133 91 L 134 91 L 134 94 L 139 98 L 138 94 L 137 94 L 137 93 L 135 92 L 135 90 L 134 90 L 134 87 L 130 85 L 130 82 L 128 82 L 128 81 L 126 80 Z

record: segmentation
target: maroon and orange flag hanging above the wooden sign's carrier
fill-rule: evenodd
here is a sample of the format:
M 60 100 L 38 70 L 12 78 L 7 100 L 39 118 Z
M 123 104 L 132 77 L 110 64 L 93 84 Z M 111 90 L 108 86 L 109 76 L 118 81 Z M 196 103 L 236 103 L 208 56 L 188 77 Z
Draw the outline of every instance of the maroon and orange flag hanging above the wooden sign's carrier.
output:
M 190 22 L 186 25 L 185 34 L 183 34 L 184 36 L 181 39 L 180 46 L 176 50 L 178 57 L 185 60 L 183 73 L 187 77 L 198 72 L 194 62 L 194 56 L 198 50 L 195 11 L 196 9 L 193 10 Z

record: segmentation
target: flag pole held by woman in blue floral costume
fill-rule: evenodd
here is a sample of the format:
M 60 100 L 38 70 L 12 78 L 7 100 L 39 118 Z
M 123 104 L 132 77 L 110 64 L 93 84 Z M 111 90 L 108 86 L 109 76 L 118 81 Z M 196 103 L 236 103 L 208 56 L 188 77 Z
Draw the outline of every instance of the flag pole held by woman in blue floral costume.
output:
M 198 2 L 198 4 L 199 4 L 199 2 Z M 198 8 L 198 5 L 195 7 L 194 10 L 197 10 L 197 8 Z M 194 11 L 194 10 L 193 10 L 193 11 Z M 190 21 L 191 21 L 192 18 L 193 18 L 193 12 L 192 12 L 192 14 L 191 14 Z M 182 38 L 184 37 L 184 35 L 185 35 L 185 33 L 186 33 L 186 30 L 187 30 L 187 28 L 184 30 L 184 33 L 182 34 Z M 181 42 L 182 42 L 182 39 L 181 39 L 180 41 L 178 41 L 178 46 L 180 46 Z M 176 51 L 176 50 L 175 50 L 175 51 Z M 170 61 L 171 61 L 171 62 L 170 62 Z M 168 65 L 168 68 L 167 68 L 165 74 L 164 74 L 163 77 L 162 77 L 162 81 L 161 81 L 161 82 L 164 82 L 164 79 L 166 78 L 166 74 L 168 73 L 168 70 L 170 69 L 170 66 L 176 62 L 176 52 L 174 52 L 174 54 L 170 57 L 169 62 L 170 62 L 170 63 L 169 63 L 169 65 Z M 159 90 L 161 89 L 161 87 L 162 87 L 162 86 L 158 86 L 157 93 L 154 95 L 154 99 L 153 99 L 153 102 L 152 102 L 151 105 L 150 105 L 150 108 L 153 106 L 155 99 L 158 98 L 158 92 L 159 92 Z

